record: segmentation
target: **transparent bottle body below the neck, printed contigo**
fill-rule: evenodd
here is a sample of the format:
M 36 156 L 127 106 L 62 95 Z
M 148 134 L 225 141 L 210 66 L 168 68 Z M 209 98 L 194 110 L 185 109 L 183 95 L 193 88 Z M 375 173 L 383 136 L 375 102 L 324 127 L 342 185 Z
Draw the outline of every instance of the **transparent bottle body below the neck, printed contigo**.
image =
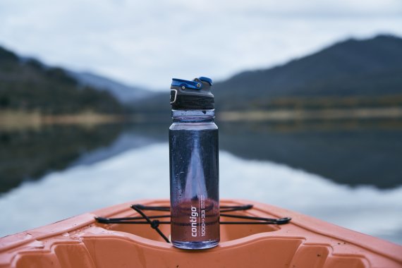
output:
M 203 125 L 169 130 L 171 240 L 178 248 L 219 242 L 218 130 Z

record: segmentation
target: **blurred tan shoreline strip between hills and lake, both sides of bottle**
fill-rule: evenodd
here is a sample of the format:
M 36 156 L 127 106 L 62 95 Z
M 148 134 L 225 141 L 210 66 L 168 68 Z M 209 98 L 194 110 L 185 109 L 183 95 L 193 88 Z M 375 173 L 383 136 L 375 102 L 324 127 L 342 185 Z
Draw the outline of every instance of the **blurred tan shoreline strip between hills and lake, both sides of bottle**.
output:
M 148 117 L 151 116 L 151 117 Z M 155 115 L 153 115 L 155 117 Z M 109 123 L 158 123 L 160 116 L 153 118 L 147 114 L 98 114 L 95 111 L 81 111 L 78 114 L 47 115 L 39 111 L 0 110 L 0 130 L 39 129 L 44 126 L 93 127 Z M 166 120 L 167 120 L 166 116 Z M 249 111 L 220 111 L 217 120 L 221 122 L 311 122 L 348 120 L 402 120 L 402 106 L 348 108 L 348 109 L 274 109 Z M 163 121 L 164 122 L 164 121 Z

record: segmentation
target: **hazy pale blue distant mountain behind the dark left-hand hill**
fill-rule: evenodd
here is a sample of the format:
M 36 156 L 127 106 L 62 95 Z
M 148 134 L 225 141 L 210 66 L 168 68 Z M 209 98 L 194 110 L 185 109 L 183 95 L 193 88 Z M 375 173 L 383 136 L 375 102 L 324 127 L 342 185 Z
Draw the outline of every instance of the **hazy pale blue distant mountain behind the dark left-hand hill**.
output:
M 104 78 L 103 76 L 95 75 L 93 73 L 68 71 L 68 74 L 78 80 L 81 85 L 94 87 L 98 90 L 109 91 L 111 95 L 114 95 L 114 97 L 118 99 L 119 102 L 124 104 L 130 104 L 131 102 L 154 95 L 154 92 L 150 90 L 124 85 L 123 83 L 118 83 L 115 80 Z

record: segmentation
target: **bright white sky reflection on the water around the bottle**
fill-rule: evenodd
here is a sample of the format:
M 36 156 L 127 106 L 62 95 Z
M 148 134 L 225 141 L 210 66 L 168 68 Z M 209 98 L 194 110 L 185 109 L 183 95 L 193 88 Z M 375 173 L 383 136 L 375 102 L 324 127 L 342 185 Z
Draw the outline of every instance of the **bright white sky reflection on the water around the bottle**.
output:
M 169 198 L 167 142 L 128 150 L 91 165 L 24 183 L 0 199 L 0 236 L 100 207 L 142 198 Z M 221 197 L 293 209 L 402 244 L 402 187 L 351 188 L 282 164 L 220 153 Z M 376 219 L 386 219 L 379 224 Z M 30 221 L 27 221 L 30 219 Z

